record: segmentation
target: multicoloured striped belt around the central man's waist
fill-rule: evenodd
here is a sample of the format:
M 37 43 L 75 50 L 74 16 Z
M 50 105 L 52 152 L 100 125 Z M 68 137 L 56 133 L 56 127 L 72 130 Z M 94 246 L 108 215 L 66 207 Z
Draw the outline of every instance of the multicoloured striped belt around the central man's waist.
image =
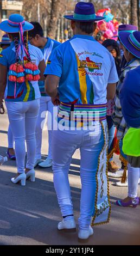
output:
M 100 105 L 78 105 L 71 103 L 60 103 L 59 118 L 81 123 L 90 121 L 106 120 L 106 104 Z

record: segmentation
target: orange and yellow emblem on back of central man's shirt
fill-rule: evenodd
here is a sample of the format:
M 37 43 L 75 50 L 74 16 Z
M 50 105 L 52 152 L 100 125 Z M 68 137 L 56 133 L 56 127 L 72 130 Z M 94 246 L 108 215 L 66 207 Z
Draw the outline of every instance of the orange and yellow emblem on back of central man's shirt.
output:
M 100 70 L 102 63 L 93 62 L 90 57 L 86 57 L 86 60 L 80 60 L 79 69 L 87 68 L 88 71 L 93 72 L 95 69 Z

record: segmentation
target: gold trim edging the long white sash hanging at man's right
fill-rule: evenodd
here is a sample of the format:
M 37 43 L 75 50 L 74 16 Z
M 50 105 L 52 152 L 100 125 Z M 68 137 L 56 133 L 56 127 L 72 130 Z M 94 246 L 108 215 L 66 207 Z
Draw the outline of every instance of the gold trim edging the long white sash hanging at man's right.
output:
M 97 189 L 96 189 L 96 200 L 95 200 L 95 214 L 94 214 L 94 216 L 92 218 L 92 223 L 91 223 L 92 226 L 109 223 L 109 221 L 110 221 L 110 214 L 111 214 L 111 204 L 110 204 L 110 194 L 109 194 L 109 178 L 108 178 L 108 175 L 107 175 L 107 172 L 108 172 L 108 162 L 109 162 L 108 161 L 108 145 L 107 145 L 107 149 L 106 149 L 106 159 L 107 159 L 106 160 L 106 176 L 107 176 L 107 197 L 108 197 L 108 201 L 109 201 L 109 215 L 108 215 L 107 221 L 103 221 L 103 222 L 100 222 L 100 223 L 94 223 L 94 220 L 96 219 L 96 215 L 97 215 L 97 211 L 98 211 L 98 209 L 97 209 L 97 200 L 98 200 L 98 178 L 97 178 L 97 175 L 98 175 L 98 171 L 99 171 L 100 155 L 101 155 L 101 153 L 103 152 L 103 150 L 104 150 L 104 148 L 106 146 L 105 130 L 104 130 L 104 125 L 103 125 L 102 122 L 101 122 L 101 127 L 103 129 L 103 135 L 104 135 L 104 146 L 101 149 L 99 157 L 98 157 L 98 167 L 97 167 L 97 172 L 96 172 Z M 109 130 L 107 129 L 107 131 L 108 131 L 108 135 L 109 135 Z

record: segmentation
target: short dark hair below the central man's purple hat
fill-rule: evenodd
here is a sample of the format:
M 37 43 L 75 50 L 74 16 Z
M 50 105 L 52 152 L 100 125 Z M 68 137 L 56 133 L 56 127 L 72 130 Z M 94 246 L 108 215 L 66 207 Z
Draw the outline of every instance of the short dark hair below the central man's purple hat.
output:
M 91 34 L 94 32 L 94 21 L 89 21 L 89 22 L 76 21 L 75 26 L 79 28 L 82 32 L 85 32 L 87 34 Z

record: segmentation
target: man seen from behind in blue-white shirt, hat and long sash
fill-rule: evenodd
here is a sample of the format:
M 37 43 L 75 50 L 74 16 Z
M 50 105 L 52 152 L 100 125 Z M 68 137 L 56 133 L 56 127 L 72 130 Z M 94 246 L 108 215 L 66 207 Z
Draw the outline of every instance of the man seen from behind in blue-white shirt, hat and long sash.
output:
M 88 239 L 93 235 L 91 223 L 109 222 L 106 102 L 114 97 L 118 75 L 110 52 L 92 36 L 95 21 L 104 19 L 96 16 L 94 5 L 79 2 L 74 15 L 65 17 L 72 20 L 74 36 L 55 48 L 44 72 L 46 92 L 55 105 L 60 101 L 59 129 L 53 131 L 52 140 L 54 186 L 63 217 L 58 229 L 75 228 L 68 171 L 79 148 L 82 189 L 78 237 Z M 80 118 L 83 112 L 88 118 Z M 66 124 L 63 129 L 62 123 Z

